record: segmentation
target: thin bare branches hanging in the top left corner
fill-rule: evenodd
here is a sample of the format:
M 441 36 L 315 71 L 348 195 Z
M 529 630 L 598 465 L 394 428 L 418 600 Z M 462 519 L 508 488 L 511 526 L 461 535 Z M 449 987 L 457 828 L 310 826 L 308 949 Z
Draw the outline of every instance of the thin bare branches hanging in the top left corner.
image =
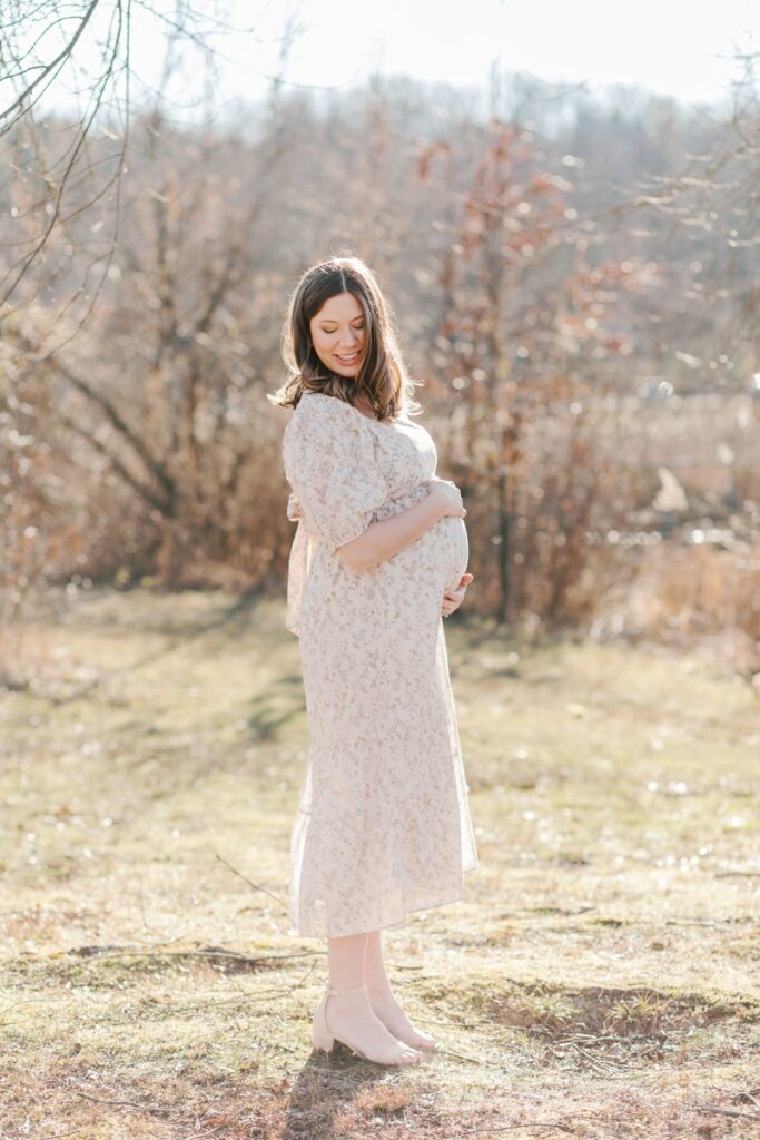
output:
M 119 244 L 123 181 L 128 171 L 130 124 L 136 106 L 133 38 L 138 17 L 163 36 L 165 54 L 157 90 L 149 103 L 167 114 L 166 91 L 185 57 L 206 75 L 197 106 L 183 105 L 206 121 L 212 115 L 214 71 L 221 54 L 219 33 L 251 34 L 218 15 L 222 5 L 174 0 L 7 0 L 0 16 L 0 156 L 7 171 L 0 201 L 8 222 L 0 235 L 0 307 L 25 306 L 44 298 L 63 319 L 74 307 L 75 334 L 89 317 L 113 264 Z M 283 84 L 291 43 L 299 28 L 289 22 L 281 38 Z M 80 57 L 85 56 L 83 65 Z M 75 76 L 76 107 L 56 107 L 56 93 Z M 145 104 L 145 99 L 142 100 Z M 201 104 L 205 104 L 199 109 Z M 97 241 L 88 235 L 90 256 L 72 280 L 68 250 L 81 242 L 76 223 L 99 205 Z M 54 238 L 59 239 L 56 245 Z M 63 252 L 62 252 L 63 251 Z M 49 256 L 36 275 L 32 269 Z M 56 291 L 56 286 L 58 290 Z M 52 304 L 56 300 L 57 308 Z M 1 311 L 1 308 L 0 308 Z M 71 325 L 71 319 L 70 319 Z

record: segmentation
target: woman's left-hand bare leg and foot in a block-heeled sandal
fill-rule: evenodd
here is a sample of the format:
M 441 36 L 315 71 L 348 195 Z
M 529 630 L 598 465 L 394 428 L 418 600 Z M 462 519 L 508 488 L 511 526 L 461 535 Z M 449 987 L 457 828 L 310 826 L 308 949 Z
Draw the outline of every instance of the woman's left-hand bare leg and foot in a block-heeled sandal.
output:
M 327 939 L 328 984 L 340 991 L 349 991 L 326 995 L 324 1016 L 327 1028 L 338 1041 L 358 1049 L 369 1060 L 383 1057 L 383 1064 L 400 1065 L 416 1061 L 419 1053 L 397 1040 L 373 1010 L 365 985 L 366 951 L 366 934 Z

